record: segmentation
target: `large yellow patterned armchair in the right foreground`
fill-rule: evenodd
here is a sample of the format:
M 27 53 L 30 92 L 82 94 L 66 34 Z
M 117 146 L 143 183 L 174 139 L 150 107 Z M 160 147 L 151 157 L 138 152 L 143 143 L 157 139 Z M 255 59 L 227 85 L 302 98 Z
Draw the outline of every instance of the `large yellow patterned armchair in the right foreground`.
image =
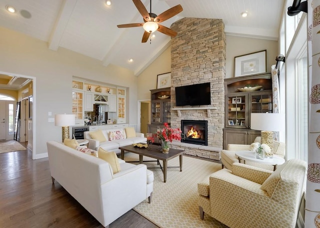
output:
M 198 183 L 200 218 L 205 213 L 230 228 L 294 228 L 305 174 L 299 159 L 275 171 L 234 163 Z

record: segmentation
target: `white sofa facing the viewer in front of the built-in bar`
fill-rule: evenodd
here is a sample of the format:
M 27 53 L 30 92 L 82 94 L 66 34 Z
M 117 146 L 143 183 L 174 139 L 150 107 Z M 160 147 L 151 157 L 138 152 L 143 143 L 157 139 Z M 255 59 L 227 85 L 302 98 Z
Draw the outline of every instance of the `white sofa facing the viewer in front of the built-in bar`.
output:
M 114 139 L 109 140 L 109 132 L 110 131 L 124 131 L 124 138 L 122 139 Z M 119 129 L 103 129 L 101 130 L 106 141 L 100 142 L 99 140 L 93 139 L 90 136 L 90 131 L 84 131 L 83 136 L 84 139 L 87 139 L 89 141 L 88 147 L 90 149 L 98 150 L 99 147 L 101 147 L 104 150 L 107 151 L 114 151 L 115 153 L 120 153 L 121 150 L 119 149 L 120 146 L 130 145 L 133 143 L 139 143 L 139 142 L 146 142 L 146 137 L 144 137 L 143 133 L 135 132 L 135 137 L 126 137 L 125 130 L 123 128 Z

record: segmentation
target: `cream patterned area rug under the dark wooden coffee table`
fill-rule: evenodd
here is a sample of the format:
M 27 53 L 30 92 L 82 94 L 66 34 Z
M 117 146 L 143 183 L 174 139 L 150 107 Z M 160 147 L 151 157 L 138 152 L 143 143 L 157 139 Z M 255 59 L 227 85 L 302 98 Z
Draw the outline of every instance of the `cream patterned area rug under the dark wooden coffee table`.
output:
M 124 160 L 138 160 L 138 155 L 125 153 Z M 143 157 L 143 160 L 152 158 Z M 162 228 L 227 227 L 207 214 L 204 214 L 204 219 L 201 220 L 197 199 L 197 182 L 221 169 L 221 164 L 183 156 L 182 172 L 179 168 L 168 168 L 166 183 L 163 182 L 161 169 L 152 168 L 158 167 L 156 162 L 144 164 L 154 174 L 152 201 L 149 204 L 144 200 L 136 205 L 133 208 L 136 212 Z M 179 158 L 169 160 L 168 166 L 179 166 Z

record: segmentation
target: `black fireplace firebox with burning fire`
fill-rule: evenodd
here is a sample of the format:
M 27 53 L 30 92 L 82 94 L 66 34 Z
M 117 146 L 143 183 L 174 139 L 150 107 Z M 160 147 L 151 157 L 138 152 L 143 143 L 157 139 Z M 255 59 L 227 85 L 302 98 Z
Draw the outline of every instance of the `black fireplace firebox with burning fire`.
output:
M 208 145 L 207 120 L 181 120 L 181 142 Z

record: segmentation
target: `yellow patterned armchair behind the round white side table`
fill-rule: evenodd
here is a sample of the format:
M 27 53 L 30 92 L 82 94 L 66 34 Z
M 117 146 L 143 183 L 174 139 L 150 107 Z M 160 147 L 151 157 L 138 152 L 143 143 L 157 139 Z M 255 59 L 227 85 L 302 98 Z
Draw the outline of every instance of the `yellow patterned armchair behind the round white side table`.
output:
M 254 139 L 254 142 L 260 142 L 261 137 L 258 136 Z M 228 144 L 227 150 L 222 149 L 221 150 L 221 162 L 224 167 L 227 169 L 232 168 L 232 164 L 234 162 L 239 162 L 238 158 L 235 156 L 236 150 L 249 150 L 250 145 L 244 145 L 244 144 Z M 285 153 L 285 143 L 279 142 L 279 141 L 273 141 L 273 156 L 278 156 L 283 158 Z M 252 161 L 246 161 L 246 164 L 253 165 L 259 168 L 264 168 L 268 170 L 273 170 L 273 165 L 270 164 L 261 164 L 256 163 Z

